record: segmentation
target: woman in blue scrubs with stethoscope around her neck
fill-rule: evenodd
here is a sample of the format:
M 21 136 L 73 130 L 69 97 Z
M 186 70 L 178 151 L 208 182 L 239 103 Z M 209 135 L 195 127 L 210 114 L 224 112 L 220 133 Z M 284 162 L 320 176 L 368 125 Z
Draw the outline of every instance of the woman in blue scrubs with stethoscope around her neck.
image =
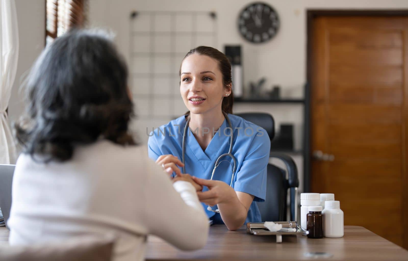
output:
M 213 223 L 237 230 L 261 221 L 255 201 L 265 200 L 271 142 L 264 129 L 232 114 L 230 62 L 217 49 L 199 46 L 186 54 L 179 75 L 188 112 L 150 133 L 149 157 L 195 185 Z

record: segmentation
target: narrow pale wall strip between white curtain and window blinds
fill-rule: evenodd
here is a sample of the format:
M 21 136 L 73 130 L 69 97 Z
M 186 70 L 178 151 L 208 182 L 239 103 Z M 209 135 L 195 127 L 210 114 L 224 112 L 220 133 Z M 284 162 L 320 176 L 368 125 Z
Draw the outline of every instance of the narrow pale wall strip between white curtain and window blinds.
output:
M 16 79 L 9 102 L 9 122 L 24 111 L 24 93 L 20 85 L 35 58 L 44 48 L 45 0 L 15 0 L 20 48 Z

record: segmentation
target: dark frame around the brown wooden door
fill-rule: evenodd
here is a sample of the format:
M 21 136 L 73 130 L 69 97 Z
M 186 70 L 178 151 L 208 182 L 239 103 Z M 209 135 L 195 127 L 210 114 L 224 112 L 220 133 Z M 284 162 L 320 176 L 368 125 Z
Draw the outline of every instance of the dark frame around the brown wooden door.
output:
M 310 191 L 310 173 L 311 173 L 311 147 L 310 147 L 310 88 L 313 88 L 311 79 L 312 70 L 312 39 L 313 39 L 313 22 L 319 16 L 406 16 L 408 17 L 408 9 L 384 9 L 384 10 L 361 10 L 361 9 L 307 9 L 306 10 L 306 88 L 305 88 L 305 130 L 304 130 L 304 192 Z M 403 33 L 404 42 L 408 42 L 408 30 Z M 404 63 L 408 63 L 408 44 L 404 51 Z M 404 189 L 408 189 L 408 66 L 403 70 L 404 86 L 403 86 L 403 107 L 402 107 L 402 217 L 404 225 L 403 247 L 408 249 L 408 193 L 404 193 Z

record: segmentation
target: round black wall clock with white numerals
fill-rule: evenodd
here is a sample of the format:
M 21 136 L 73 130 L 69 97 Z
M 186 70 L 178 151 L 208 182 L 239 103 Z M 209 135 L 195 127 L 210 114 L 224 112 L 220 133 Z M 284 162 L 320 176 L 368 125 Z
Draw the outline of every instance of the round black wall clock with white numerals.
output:
M 238 29 L 239 33 L 250 42 L 266 42 L 276 35 L 279 29 L 279 18 L 271 6 L 255 2 L 239 13 Z

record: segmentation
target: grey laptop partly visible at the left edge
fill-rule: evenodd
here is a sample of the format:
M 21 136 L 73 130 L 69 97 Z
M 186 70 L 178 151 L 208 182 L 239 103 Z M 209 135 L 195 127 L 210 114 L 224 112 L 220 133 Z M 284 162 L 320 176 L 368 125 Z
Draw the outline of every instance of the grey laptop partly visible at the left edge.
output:
M 0 164 L 0 209 L 3 213 L 3 219 L 6 226 L 7 220 L 10 217 L 11 183 L 13 181 L 15 167 L 16 165 Z

